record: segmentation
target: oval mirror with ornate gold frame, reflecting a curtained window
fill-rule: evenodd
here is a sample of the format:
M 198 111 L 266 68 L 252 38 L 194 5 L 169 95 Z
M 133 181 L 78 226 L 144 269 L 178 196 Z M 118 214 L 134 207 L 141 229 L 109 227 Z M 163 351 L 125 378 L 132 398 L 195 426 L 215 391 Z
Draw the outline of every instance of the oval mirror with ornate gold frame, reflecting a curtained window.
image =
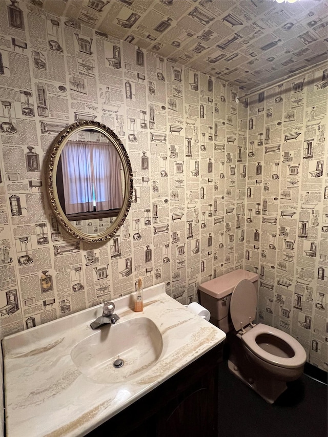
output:
M 111 238 L 131 206 L 129 156 L 117 135 L 97 121 L 78 121 L 56 137 L 48 161 L 50 204 L 72 236 Z

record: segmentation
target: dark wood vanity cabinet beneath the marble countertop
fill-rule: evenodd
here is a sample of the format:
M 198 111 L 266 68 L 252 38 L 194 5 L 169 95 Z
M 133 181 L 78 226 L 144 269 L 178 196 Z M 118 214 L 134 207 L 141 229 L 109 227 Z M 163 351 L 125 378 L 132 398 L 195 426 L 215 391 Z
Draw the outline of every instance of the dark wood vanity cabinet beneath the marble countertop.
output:
M 221 356 L 218 345 L 88 437 L 217 437 Z

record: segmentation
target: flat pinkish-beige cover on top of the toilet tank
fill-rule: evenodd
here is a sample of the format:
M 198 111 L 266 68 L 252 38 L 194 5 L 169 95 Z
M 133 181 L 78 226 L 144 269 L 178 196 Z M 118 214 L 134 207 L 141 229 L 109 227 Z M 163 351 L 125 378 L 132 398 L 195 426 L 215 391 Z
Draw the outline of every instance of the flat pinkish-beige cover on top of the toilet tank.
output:
M 198 285 L 198 289 L 216 299 L 221 299 L 230 295 L 235 286 L 243 279 L 256 282 L 258 275 L 257 273 L 248 272 L 240 268 L 212 279 L 211 281 L 203 282 L 201 285 Z

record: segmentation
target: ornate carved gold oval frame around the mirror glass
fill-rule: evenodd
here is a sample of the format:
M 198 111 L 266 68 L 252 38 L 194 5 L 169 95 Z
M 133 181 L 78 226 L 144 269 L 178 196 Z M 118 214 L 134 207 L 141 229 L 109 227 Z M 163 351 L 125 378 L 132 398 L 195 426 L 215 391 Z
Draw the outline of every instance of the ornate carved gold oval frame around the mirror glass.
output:
M 81 131 L 97 132 L 104 135 L 108 139 L 108 141 L 115 147 L 119 155 L 121 170 L 124 175 L 124 183 L 122 183 L 122 186 L 124 186 L 122 206 L 118 211 L 117 216 L 107 220 L 109 222 L 109 226 L 104 231 L 92 234 L 88 234 L 87 232 L 81 230 L 81 228 L 76 227 L 76 224 L 73 224 L 74 221 L 67 218 L 58 197 L 57 171 L 61 152 L 63 151 L 65 144 L 67 144 L 72 136 Z M 48 158 L 47 188 L 52 210 L 58 222 L 71 236 L 85 242 L 106 241 L 113 237 L 120 226 L 124 223 L 130 210 L 133 192 L 133 177 L 128 153 L 117 135 L 111 129 L 105 126 L 105 124 L 101 124 L 97 121 L 77 121 L 76 123 L 71 124 L 65 130 L 61 131 L 53 142 L 52 150 L 50 151 Z M 92 223 L 92 221 L 90 223 Z

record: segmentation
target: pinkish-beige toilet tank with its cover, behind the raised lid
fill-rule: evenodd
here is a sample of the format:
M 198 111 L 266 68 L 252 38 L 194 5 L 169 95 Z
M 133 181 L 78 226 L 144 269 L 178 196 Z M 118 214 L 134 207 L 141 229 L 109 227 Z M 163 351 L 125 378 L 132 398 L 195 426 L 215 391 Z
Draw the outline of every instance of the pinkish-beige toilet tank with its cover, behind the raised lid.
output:
M 230 299 L 235 286 L 242 280 L 252 281 L 257 290 L 258 275 L 247 270 L 234 270 L 198 286 L 200 304 L 211 313 L 210 322 L 224 332 L 233 329 L 230 315 Z

